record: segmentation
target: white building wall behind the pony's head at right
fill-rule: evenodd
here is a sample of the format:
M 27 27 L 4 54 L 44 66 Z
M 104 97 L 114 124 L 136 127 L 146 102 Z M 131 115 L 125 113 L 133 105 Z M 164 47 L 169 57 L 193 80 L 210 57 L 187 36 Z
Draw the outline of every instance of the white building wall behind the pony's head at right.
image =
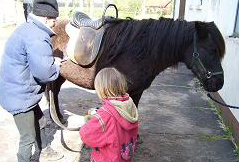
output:
M 180 0 L 175 1 L 174 19 L 177 19 Z M 230 37 L 234 31 L 237 4 L 238 0 L 186 0 L 184 18 L 187 21 L 214 21 L 218 26 L 226 44 L 222 61 L 225 83 L 219 94 L 226 104 L 239 106 L 239 38 Z M 239 121 L 239 110 L 231 111 Z

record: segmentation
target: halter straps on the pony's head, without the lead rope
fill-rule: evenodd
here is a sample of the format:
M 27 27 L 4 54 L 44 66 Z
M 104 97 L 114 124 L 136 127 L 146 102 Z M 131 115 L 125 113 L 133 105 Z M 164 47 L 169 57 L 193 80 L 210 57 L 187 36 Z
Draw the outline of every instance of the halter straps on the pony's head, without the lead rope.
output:
M 194 51 L 193 51 L 191 68 L 198 69 L 199 72 L 202 73 L 202 76 L 204 77 L 204 79 L 210 79 L 212 76 L 223 74 L 223 71 L 211 72 L 207 70 L 206 67 L 203 65 L 201 59 L 199 58 L 200 54 L 197 50 L 197 32 L 194 32 L 194 36 L 193 36 L 193 49 Z

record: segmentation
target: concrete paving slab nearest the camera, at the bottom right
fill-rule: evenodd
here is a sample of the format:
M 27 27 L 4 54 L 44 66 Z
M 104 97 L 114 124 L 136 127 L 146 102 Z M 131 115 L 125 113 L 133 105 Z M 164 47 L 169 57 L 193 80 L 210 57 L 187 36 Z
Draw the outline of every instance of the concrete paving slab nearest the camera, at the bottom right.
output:
M 236 162 L 229 140 L 200 141 L 194 135 L 150 133 L 140 129 L 133 162 Z

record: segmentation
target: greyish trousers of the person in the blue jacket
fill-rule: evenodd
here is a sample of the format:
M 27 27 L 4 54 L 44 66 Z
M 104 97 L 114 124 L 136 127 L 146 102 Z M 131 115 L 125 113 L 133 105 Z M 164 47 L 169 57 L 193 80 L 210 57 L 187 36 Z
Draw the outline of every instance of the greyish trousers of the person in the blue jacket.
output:
M 46 124 L 39 124 L 39 121 L 45 118 L 39 105 L 27 112 L 16 114 L 13 118 L 20 134 L 18 162 L 30 162 L 32 146 L 35 144 L 36 150 L 40 151 L 48 143 L 44 129 Z

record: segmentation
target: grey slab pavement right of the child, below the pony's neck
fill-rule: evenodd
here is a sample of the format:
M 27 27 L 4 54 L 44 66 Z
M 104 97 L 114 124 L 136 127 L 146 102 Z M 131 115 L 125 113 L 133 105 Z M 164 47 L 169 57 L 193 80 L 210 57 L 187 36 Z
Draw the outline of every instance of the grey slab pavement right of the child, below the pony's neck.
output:
M 185 66 L 161 73 L 142 96 L 137 162 L 235 162 L 216 110 Z M 196 86 L 197 87 L 197 86 Z M 210 141 L 202 137 L 221 137 Z

